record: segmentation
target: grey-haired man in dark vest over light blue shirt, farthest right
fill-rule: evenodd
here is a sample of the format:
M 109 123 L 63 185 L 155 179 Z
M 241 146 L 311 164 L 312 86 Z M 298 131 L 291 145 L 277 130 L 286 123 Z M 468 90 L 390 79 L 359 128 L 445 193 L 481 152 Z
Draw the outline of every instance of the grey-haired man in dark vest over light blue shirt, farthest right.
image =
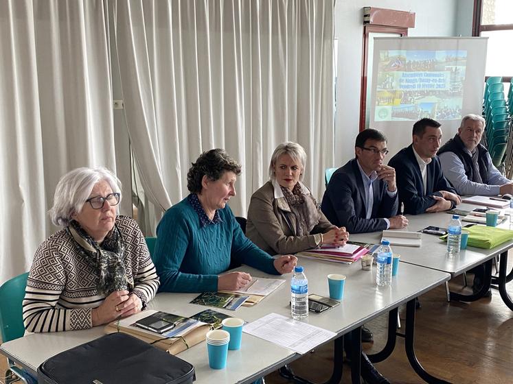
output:
M 485 121 L 466 115 L 453 139 L 445 143 L 438 157 L 444 176 L 459 195 L 504 195 L 513 193 L 513 182 L 493 165 L 488 150 L 480 144 Z

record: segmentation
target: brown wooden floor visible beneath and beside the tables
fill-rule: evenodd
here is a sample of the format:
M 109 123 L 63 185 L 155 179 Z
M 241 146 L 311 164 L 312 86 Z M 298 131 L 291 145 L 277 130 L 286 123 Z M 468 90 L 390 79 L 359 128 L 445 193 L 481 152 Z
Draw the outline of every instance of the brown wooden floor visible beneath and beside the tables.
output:
M 460 277 L 451 280 L 451 289 L 461 289 L 461 283 Z M 508 291 L 513 297 L 513 283 Z M 492 289 L 492 293 L 492 298 L 477 302 L 448 303 L 442 286 L 420 297 L 422 308 L 415 317 L 415 350 L 429 373 L 454 384 L 513 383 L 513 311 L 503 304 L 497 290 Z M 400 309 L 403 324 L 404 311 Z M 375 341 L 364 344 L 364 349 L 376 352 L 385 345 L 387 317 L 379 317 L 367 326 L 374 332 Z M 332 344 L 310 352 L 291 366 L 296 374 L 310 381 L 328 380 Z M 391 383 L 423 383 L 411 369 L 400 337 L 391 357 L 376 367 Z M 350 383 L 349 365 L 344 364 L 343 371 L 343 383 Z M 3 357 L 0 357 L 0 372 L 2 377 Z M 266 383 L 288 381 L 274 372 L 266 376 Z

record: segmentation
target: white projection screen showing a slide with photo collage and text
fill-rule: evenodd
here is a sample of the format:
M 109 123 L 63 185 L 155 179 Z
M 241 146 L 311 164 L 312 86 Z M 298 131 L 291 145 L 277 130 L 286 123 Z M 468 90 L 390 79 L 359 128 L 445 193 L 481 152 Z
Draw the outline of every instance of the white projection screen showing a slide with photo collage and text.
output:
M 411 144 L 413 123 L 442 123 L 442 143 L 461 117 L 481 115 L 487 38 L 374 39 L 369 127 L 385 133 L 388 159 Z M 387 161 L 388 159 L 385 159 Z

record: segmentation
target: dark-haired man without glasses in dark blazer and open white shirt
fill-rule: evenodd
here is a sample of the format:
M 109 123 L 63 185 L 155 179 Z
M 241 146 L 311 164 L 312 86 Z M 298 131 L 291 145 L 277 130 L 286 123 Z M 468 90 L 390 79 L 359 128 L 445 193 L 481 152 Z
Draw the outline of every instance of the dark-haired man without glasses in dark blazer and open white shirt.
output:
M 442 141 L 440 125 L 433 119 L 417 121 L 413 124 L 413 143 L 401 149 L 388 163 L 396 169 L 399 201 L 404 204 L 404 213 L 447 211 L 461 203 L 444 177 L 436 156 Z

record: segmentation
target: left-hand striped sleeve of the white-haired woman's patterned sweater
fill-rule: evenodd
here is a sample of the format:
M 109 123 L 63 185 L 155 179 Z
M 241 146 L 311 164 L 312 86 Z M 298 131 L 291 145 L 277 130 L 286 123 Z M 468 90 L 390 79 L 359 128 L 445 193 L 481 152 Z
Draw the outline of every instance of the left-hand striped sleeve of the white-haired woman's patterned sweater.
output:
M 91 308 L 57 306 L 66 283 L 60 250 L 45 241 L 34 256 L 23 299 L 23 324 L 30 332 L 57 332 L 91 328 Z

